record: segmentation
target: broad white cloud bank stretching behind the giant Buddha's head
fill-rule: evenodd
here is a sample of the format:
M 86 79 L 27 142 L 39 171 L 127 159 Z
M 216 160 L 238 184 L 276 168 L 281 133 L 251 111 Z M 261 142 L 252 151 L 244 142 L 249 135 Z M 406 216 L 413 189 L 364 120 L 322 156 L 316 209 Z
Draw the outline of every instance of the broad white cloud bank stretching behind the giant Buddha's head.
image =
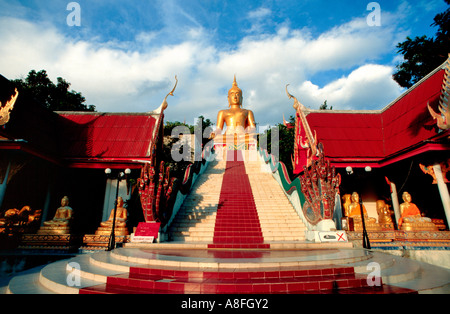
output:
M 270 10 L 260 8 L 249 15 L 257 19 L 267 14 Z M 392 50 L 395 25 L 370 28 L 364 19 L 354 19 L 318 38 L 284 26 L 274 34 L 243 38 L 234 50 L 217 47 L 207 30 L 197 26 L 185 29 L 185 40 L 178 44 L 154 46 L 158 35 L 139 33 L 125 50 L 118 48 L 120 43 L 74 40 L 49 25 L 2 17 L 1 74 L 14 79 L 45 69 L 52 80 L 61 76 L 71 82 L 97 110 L 130 112 L 158 107 L 178 75 L 166 119 L 189 123 L 200 114 L 215 121 L 227 107 L 234 74 L 244 107 L 261 124 L 275 124 L 283 113 L 293 113 L 286 84 L 305 105 L 327 99 L 335 109 L 381 109 L 400 93 L 392 67 L 374 63 Z M 325 86 L 311 82 L 311 75 L 329 70 L 351 72 Z

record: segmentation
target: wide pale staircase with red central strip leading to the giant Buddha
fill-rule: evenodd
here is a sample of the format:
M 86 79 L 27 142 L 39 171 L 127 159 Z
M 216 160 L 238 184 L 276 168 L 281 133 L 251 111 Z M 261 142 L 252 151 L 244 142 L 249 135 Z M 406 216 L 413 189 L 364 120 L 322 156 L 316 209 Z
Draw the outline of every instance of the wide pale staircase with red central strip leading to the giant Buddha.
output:
M 210 164 L 180 208 L 173 241 L 209 242 L 209 248 L 269 248 L 305 241 L 303 222 L 260 161 L 228 151 Z

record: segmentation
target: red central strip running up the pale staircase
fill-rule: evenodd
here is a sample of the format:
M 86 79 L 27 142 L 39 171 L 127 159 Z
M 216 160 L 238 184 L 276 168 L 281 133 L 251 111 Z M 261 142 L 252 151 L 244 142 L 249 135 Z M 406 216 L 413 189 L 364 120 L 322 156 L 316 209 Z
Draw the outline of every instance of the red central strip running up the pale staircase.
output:
M 241 151 L 227 152 L 213 244 L 209 244 L 209 248 L 270 247 L 264 243 L 250 181 L 242 160 Z

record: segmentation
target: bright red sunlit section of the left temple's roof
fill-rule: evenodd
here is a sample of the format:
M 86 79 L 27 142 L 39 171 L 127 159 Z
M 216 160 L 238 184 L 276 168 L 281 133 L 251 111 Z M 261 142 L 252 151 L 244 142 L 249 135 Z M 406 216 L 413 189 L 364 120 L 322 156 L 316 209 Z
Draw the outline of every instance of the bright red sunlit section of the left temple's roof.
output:
M 59 113 L 66 160 L 133 161 L 150 157 L 159 115 L 149 113 Z

